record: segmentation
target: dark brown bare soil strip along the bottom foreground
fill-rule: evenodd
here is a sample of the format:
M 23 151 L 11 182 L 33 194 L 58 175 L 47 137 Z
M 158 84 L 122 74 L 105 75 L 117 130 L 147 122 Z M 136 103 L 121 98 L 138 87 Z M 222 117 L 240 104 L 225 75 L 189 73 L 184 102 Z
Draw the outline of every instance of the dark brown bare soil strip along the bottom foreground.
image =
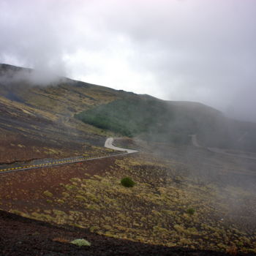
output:
M 91 246 L 67 243 L 85 238 Z M 66 242 L 65 242 L 66 241 Z M 232 255 L 222 252 L 196 251 L 177 247 L 141 244 L 90 233 L 78 227 L 56 227 L 0 211 L 0 255 Z M 242 254 L 233 254 L 242 255 Z M 252 255 L 252 254 L 247 254 Z

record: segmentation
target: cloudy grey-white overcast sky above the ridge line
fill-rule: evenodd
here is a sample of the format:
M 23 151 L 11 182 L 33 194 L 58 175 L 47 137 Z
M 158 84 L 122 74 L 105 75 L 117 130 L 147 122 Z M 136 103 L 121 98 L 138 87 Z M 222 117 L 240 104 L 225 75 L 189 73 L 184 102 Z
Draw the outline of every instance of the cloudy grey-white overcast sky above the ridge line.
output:
M 256 1 L 0 0 L 0 62 L 256 121 Z

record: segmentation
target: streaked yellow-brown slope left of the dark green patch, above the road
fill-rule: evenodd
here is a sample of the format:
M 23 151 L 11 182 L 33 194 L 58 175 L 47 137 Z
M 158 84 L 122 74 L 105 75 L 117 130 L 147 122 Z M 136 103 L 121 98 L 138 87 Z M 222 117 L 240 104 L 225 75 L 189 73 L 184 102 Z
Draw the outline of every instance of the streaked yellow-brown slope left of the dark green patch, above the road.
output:
M 1 64 L 0 162 L 69 157 L 84 152 L 85 143 L 103 146 L 108 133 L 72 116 L 117 94 L 66 78 L 45 86 L 32 69 Z

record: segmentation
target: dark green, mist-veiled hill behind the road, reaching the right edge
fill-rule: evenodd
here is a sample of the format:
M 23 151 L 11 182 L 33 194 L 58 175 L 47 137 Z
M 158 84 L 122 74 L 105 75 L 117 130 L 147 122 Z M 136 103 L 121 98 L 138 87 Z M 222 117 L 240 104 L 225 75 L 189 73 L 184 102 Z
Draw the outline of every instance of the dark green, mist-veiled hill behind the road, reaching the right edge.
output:
M 129 137 L 186 144 L 197 134 L 205 146 L 256 150 L 256 124 L 231 120 L 196 102 L 167 102 L 135 95 L 75 115 L 101 129 Z

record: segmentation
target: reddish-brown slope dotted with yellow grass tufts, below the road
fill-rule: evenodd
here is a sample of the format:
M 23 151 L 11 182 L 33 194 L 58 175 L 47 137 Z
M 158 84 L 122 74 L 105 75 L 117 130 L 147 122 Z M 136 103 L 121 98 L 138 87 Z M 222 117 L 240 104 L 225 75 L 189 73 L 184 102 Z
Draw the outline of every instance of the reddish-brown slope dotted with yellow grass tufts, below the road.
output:
M 229 159 L 227 164 L 231 164 Z M 198 182 L 189 168 L 175 159 L 140 154 L 72 165 L 70 169 L 45 168 L 22 177 L 18 173 L 0 182 L 2 207 L 25 217 L 85 227 L 115 238 L 256 252 L 254 193 Z M 222 179 L 226 174 L 219 170 L 217 176 Z M 121 186 L 125 176 L 136 181 L 135 187 Z M 3 184 L 12 187 L 11 198 Z M 233 205 L 238 198 L 239 207 Z M 195 214 L 187 214 L 189 208 L 194 208 Z

